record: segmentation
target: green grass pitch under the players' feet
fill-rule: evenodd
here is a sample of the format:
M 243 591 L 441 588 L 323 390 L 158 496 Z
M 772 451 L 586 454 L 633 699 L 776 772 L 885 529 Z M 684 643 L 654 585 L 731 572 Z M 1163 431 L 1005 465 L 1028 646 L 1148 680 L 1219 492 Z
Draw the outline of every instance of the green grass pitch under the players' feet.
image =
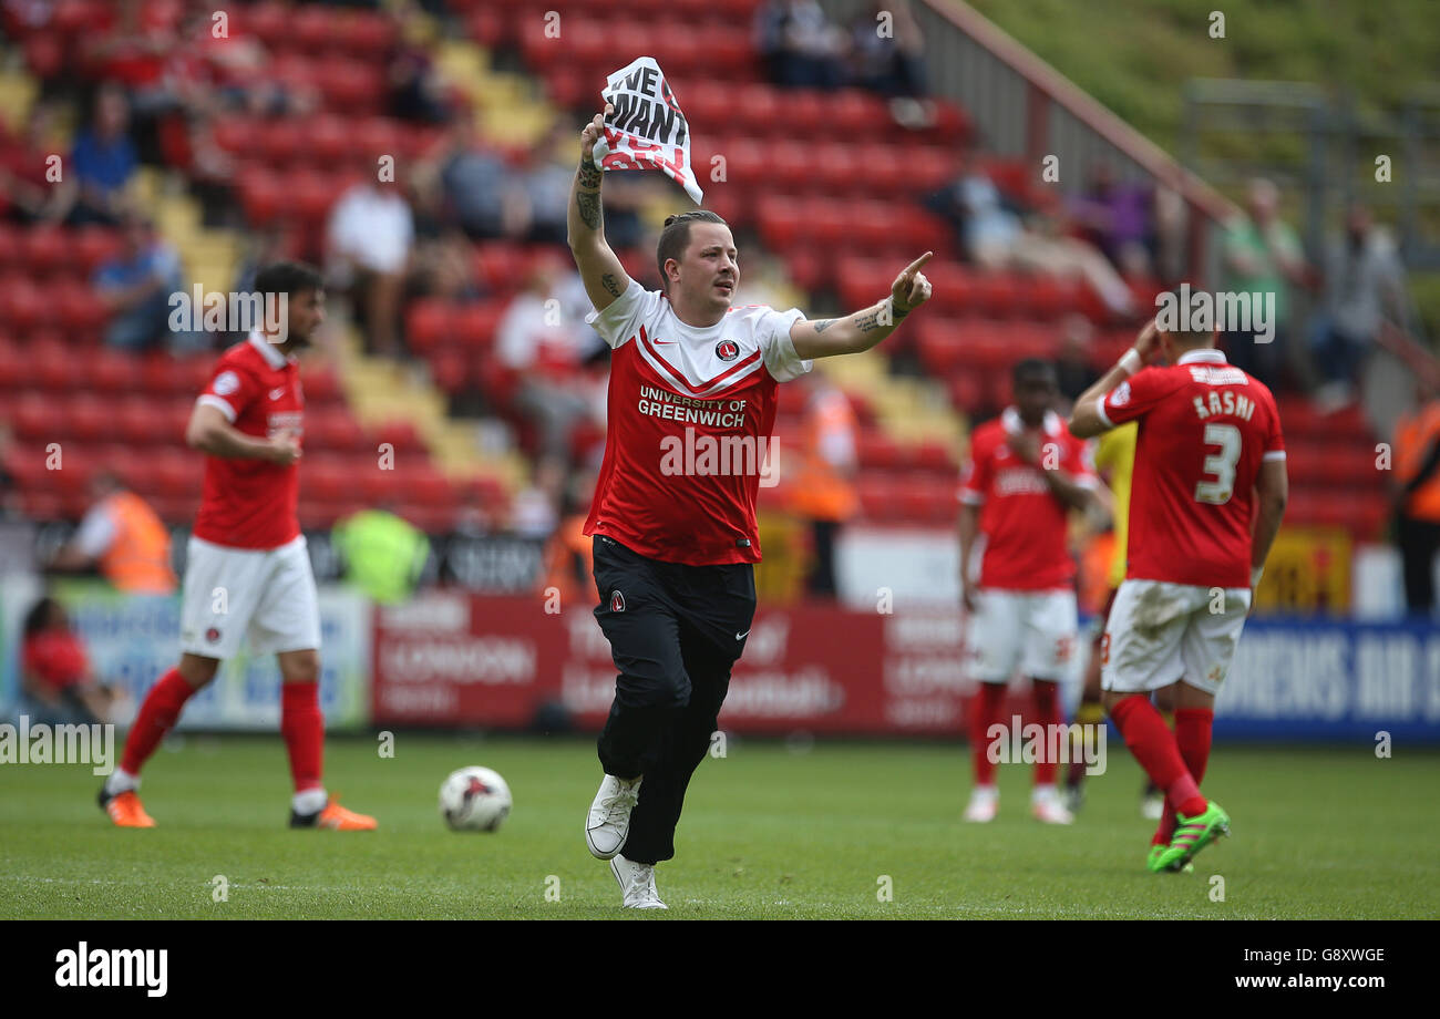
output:
M 374 833 L 289 830 L 279 737 L 197 737 L 145 771 L 153 830 L 112 828 L 86 766 L 0 767 L 0 917 L 615 918 L 585 849 L 590 740 L 399 733 L 331 738 L 327 784 Z M 1436 753 L 1218 746 L 1205 790 L 1233 836 L 1189 875 L 1143 869 L 1140 773 L 1112 740 L 1071 828 L 1028 816 L 1030 769 L 1001 769 L 1001 815 L 966 825 L 966 748 L 732 740 L 690 787 L 654 918 L 1390 918 L 1440 914 Z M 487 764 L 516 806 L 497 835 L 452 833 L 441 779 Z M 229 898 L 213 900 L 223 875 Z M 1214 901 L 1224 878 L 1224 900 Z M 888 881 L 886 881 L 888 878 Z M 891 901 L 881 901 L 886 887 Z M 549 892 L 549 897 L 547 897 Z M 557 897 L 559 901 L 550 901 Z M 636 917 L 636 918 L 641 918 Z

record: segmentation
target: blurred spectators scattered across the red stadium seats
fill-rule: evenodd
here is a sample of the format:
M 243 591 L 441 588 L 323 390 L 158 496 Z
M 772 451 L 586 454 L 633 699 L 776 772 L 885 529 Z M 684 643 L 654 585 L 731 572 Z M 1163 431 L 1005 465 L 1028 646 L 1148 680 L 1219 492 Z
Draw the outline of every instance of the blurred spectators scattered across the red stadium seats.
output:
M 82 33 L 75 53 L 58 56 L 59 71 L 24 124 L 0 127 L 0 214 L 20 225 L 98 225 L 117 233 L 118 249 L 92 281 L 107 308 L 105 343 L 190 354 L 233 340 L 170 328 L 167 298 L 192 281 L 174 243 L 135 200 L 141 166 L 171 171 L 199 200 L 207 225 L 245 229 L 232 289 L 243 291 L 256 266 L 279 256 L 321 262 L 330 294 L 376 357 L 418 360 L 406 335 L 416 302 L 500 304 L 494 338 L 484 348 L 482 384 L 454 396 L 452 409 L 513 433 L 534 471 L 511 505 L 475 502 L 456 527 L 556 535 L 557 548 L 570 548 L 603 448 L 608 366 L 605 344 L 585 324 L 589 302 L 564 248 L 576 155 L 570 118 L 562 115 L 533 141 L 497 145 L 478 134 L 475 109 L 446 79 L 433 47 L 413 42 L 416 33 L 395 32 L 377 55 L 383 112 L 423 144 L 389 176 L 377 174 L 369 160 L 348 164 L 323 229 L 301 232 L 284 217 L 253 226 L 245 219 L 233 147 L 222 144 L 225 127 L 253 118 L 264 130 L 279 118 L 310 117 L 323 109 L 321 96 L 269 73 L 275 58 L 258 39 L 240 30 L 216 37 L 215 12 L 203 4 L 121 0 L 104 10 L 108 22 Z M 387 10 L 403 29 L 419 7 L 400 3 Z M 26 0 L 3 0 L 0 12 L 22 23 L 53 16 L 50 4 Z M 752 32 L 772 83 L 858 86 L 886 96 L 901 127 L 932 122 L 923 33 L 906 0 L 863 4 L 844 24 L 815 0 L 768 0 L 756 9 Z M 71 79 L 72 69 L 82 73 Z M 59 178 L 55 154 L 65 167 Z M 1017 181 L 972 148 L 958 154 L 945 187 L 913 196 L 953 227 L 956 252 L 976 272 L 1068 278 L 1096 295 L 1097 315 L 1057 324 L 1066 399 L 1094 380 L 1093 320 L 1138 324 L 1152 314 L 1155 296 L 1189 272 L 1189 210 L 1178 190 L 1120 180 L 1107 164 L 1087 173 L 1084 189 L 1061 199 L 1058 189 L 1035 187 L 1032 173 Z M 651 174 L 613 174 L 605 190 L 606 235 L 649 286 L 658 276 L 648 213 L 657 196 L 664 204 L 667 187 Z M 1339 409 L 1356 396 L 1381 322 L 1414 324 L 1404 266 L 1390 232 L 1364 206 L 1351 207 L 1342 230 L 1316 252 L 1303 249 L 1280 209 L 1273 183 L 1251 181 L 1241 213 L 1225 227 L 1223 276 L 1214 281 L 1220 289 L 1273 295 L 1274 341 L 1231 332 L 1224 345 L 1233 361 L 1277 391 L 1309 391 L 1322 407 Z M 477 258 L 477 243 L 491 242 L 523 253 L 507 266 L 504 286 Z M 805 304 L 743 232 L 742 248 L 744 301 Z M 1302 315 L 1302 308 L 1310 314 Z M 844 479 L 858 469 L 857 426 L 840 409 L 842 402 L 819 383 L 805 400 L 805 455 L 814 458 L 806 469 L 814 469 L 821 495 L 798 512 L 812 522 L 812 547 L 821 550 L 809 581 L 816 593 L 834 590 L 828 550 L 840 522 L 854 514 Z M 1428 449 L 1430 438 L 1417 442 Z M 1424 462 L 1420 455 L 1416 469 Z M 1416 540 L 1440 535 L 1440 511 L 1434 524 L 1434 535 L 1411 528 Z M 573 573 L 573 556 L 569 561 L 562 573 Z

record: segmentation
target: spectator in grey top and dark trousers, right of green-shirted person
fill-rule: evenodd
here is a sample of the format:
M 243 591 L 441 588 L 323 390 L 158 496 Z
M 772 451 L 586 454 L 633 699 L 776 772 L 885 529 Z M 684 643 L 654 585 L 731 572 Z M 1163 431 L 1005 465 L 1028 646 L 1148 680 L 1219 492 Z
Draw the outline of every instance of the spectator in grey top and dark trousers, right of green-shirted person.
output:
M 1325 258 L 1325 305 L 1312 334 L 1325 384 L 1315 394 L 1325 410 L 1338 410 L 1355 394 L 1387 312 L 1410 328 L 1405 268 L 1390 232 L 1377 226 L 1369 209 L 1351 206 L 1345 236 Z

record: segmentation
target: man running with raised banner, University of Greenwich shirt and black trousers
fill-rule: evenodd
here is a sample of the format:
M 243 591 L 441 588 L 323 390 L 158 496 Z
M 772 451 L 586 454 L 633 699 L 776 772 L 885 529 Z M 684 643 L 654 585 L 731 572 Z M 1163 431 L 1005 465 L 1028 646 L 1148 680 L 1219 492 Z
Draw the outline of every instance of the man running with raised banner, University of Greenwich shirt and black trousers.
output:
M 606 114 L 611 108 L 606 108 Z M 930 296 L 929 253 L 890 294 L 816 322 L 732 307 L 734 237 L 697 210 L 665 220 L 664 292 L 626 273 L 605 240 L 603 118 L 580 134 L 569 240 L 612 348 L 605 459 L 585 533 L 595 547 L 595 616 L 611 642 L 615 702 L 599 738 L 605 779 L 586 815 L 590 853 L 611 861 L 626 908 L 664 910 L 655 864 L 675 855 L 690 776 L 710 748 L 730 668 L 755 616 L 755 499 L 768 465 L 778 384 L 812 358 L 855 354 Z

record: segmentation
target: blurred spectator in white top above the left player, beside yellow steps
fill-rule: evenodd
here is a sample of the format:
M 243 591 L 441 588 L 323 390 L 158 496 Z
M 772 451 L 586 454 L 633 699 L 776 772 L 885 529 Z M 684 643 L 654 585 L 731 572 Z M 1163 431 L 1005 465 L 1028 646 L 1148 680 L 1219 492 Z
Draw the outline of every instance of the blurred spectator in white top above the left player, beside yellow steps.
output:
M 397 360 L 415 220 L 399 186 L 379 180 L 369 163 L 363 166 L 364 176 L 330 210 L 325 275 L 350 294 L 367 351 Z

